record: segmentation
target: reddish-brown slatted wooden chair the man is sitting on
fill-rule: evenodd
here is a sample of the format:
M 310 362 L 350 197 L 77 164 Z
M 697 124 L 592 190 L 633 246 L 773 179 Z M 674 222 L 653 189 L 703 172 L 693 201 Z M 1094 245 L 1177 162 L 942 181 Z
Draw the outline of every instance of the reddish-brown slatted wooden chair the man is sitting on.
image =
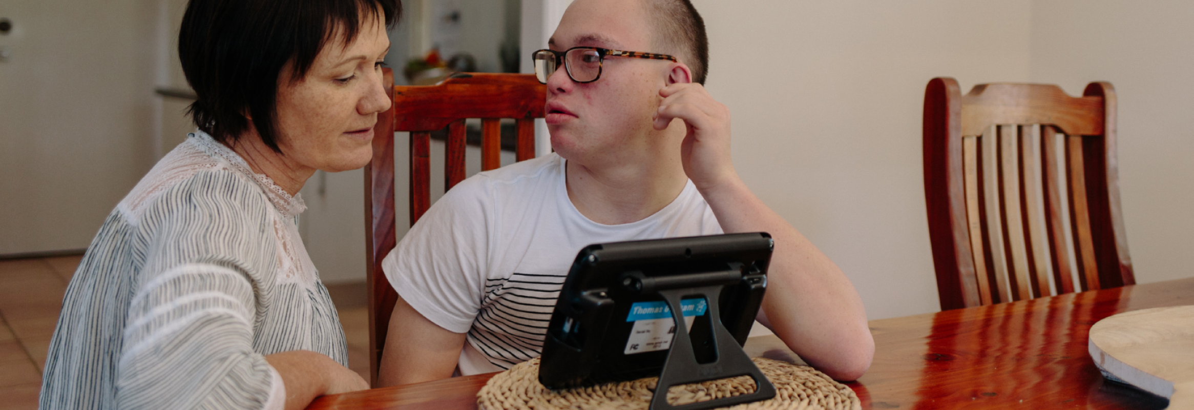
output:
M 384 69 L 386 84 L 394 74 Z M 535 158 L 534 118 L 543 117 L 547 88 L 534 74 L 456 73 L 433 86 L 393 86 L 394 104 L 374 126 L 374 157 L 365 166 L 365 269 L 369 289 L 369 373 L 377 367 L 398 294 L 381 261 L 398 244 L 394 218 L 394 133 L 410 131 L 411 214 L 414 225 L 431 207 L 431 131 L 448 127 L 444 190 L 464 179 L 464 120 L 481 118 L 481 170 L 501 166 L 500 118 L 516 118 L 517 160 Z

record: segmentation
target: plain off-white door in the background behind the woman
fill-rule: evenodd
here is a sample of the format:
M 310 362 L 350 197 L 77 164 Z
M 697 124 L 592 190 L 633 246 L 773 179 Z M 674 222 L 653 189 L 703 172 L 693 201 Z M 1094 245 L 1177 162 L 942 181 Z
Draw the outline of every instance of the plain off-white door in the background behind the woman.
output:
M 153 165 L 154 0 L 2 0 L 0 255 L 86 247 Z

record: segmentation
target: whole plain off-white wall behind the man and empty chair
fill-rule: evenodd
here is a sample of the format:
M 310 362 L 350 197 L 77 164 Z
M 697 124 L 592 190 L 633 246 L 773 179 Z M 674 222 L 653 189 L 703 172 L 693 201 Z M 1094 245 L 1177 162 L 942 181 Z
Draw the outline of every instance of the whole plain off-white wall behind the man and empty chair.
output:
M 938 310 L 921 165 L 923 90 L 938 75 L 964 92 L 1112 81 L 1137 280 L 1194 274 L 1194 4 L 694 2 L 739 172 L 845 270 L 872 319 Z

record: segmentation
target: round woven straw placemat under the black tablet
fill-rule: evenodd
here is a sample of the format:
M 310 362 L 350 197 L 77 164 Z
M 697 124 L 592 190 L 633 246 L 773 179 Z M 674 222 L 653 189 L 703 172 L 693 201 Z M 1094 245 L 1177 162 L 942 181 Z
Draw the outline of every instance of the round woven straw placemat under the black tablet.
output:
M 862 403 L 854 391 L 808 366 L 756 357 L 755 365 L 775 385 L 775 398 L 730 409 L 821 409 L 858 410 Z M 476 393 L 476 404 L 485 410 L 553 409 L 647 409 L 659 378 L 610 383 L 591 387 L 549 390 L 538 383 L 538 359 L 525 361 L 498 373 Z M 755 391 L 755 381 L 743 375 L 684 386 L 672 386 L 667 402 L 672 405 L 704 402 Z

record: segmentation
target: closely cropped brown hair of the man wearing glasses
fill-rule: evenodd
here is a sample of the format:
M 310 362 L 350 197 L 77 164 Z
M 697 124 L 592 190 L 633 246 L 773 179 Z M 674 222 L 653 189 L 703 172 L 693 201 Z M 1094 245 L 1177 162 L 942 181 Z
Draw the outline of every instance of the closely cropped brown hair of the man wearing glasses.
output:
M 677 57 L 693 69 L 693 81 L 703 85 L 709 69 L 709 37 L 704 20 L 689 0 L 646 0 L 644 8 L 656 23 L 654 42 L 659 53 L 678 54 Z

